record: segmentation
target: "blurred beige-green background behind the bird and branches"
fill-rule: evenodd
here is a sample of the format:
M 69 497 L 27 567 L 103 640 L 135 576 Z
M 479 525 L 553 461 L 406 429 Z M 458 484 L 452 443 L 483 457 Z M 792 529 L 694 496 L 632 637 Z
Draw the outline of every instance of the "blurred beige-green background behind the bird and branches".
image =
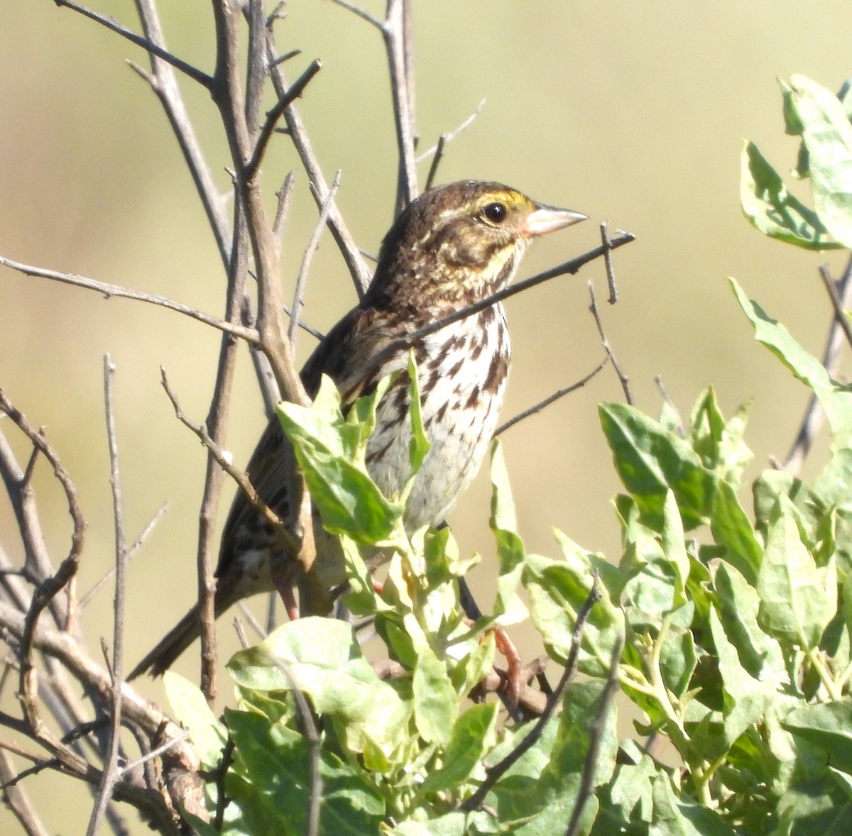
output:
M 384 3 L 364 0 L 377 14 Z M 138 31 L 130 0 L 96 8 Z M 212 71 L 210 4 L 160 3 L 170 49 Z M 607 306 L 602 262 L 508 303 L 514 361 L 504 417 L 577 381 L 603 356 L 588 312 L 596 283 L 607 335 L 630 375 L 636 404 L 659 412 L 654 375 L 688 415 L 699 392 L 716 388 L 730 415 L 751 398 L 747 440 L 752 475 L 783 457 L 806 392 L 752 339 L 727 283 L 746 292 L 820 355 L 830 321 L 817 267 L 826 256 L 769 241 L 740 214 L 740 150 L 755 140 L 777 169 L 795 162 L 783 132 L 776 77 L 803 73 L 832 90 L 852 74 L 848 3 L 415 3 L 417 127 L 421 147 L 455 129 L 481 100 L 472 126 L 448 147 L 439 182 L 502 180 L 531 197 L 577 209 L 591 222 L 539 242 L 521 276 L 599 243 L 597 224 L 636 235 L 614 255 L 620 300 Z M 132 44 L 49 0 L 0 0 L 0 255 L 78 272 L 220 315 L 224 278 L 192 181 L 158 102 L 125 64 L 145 65 Z M 327 0 L 292 0 L 279 24 L 281 52 L 296 77 L 310 60 L 324 68 L 299 106 L 328 180 L 342 169 L 337 203 L 360 246 L 376 252 L 392 220 L 396 151 L 383 43 L 377 31 Z M 227 149 L 215 107 L 181 79 L 196 128 L 222 190 Z M 264 165 L 270 205 L 285 173 L 298 168 L 285 136 Z M 423 163 L 421 184 L 429 163 Z M 807 186 L 799 192 L 808 196 Z M 291 294 L 316 210 L 300 171 L 285 234 L 282 283 Z M 835 272 L 842 255 L 827 258 Z M 305 318 L 325 331 L 354 304 L 354 289 L 327 235 L 314 261 Z M 112 506 L 102 394 L 102 355 L 112 354 L 127 532 L 132 539 L 164 502 L 169 511 L 129 571 L 130 665 L 195 597 L 195 537 L 204 451 L 175 420 L 159 385 L 170 375 L 194 420 L 204 418 L 219 335 L 180 315 L 133 301 L 27 278 L 0 268 L 0 386 L 47 428 L 76 481 L 89 521 L 79 589 L 112 566 Z M 299 354 L 313 347 L 302 335 Z M 609 467 L 596 407 L 623 398 L 611 369 L 507 432 L 521 534 L 530 550 L 556 556 L 550 527 L 619 558 Z M 264 425 L 248 352 L 243 352 L 228 448 L 245 463 Z M 9 422 L 20 455 L 28 455 Z M 820 466 L 820 451 L 809 463 Z M 55 481 L 38 474 L 40 508 L 57 561 L 70 524 Z M 227 486 L 222 517 L 233 489 Z M 451 523 L 463 553 L 481 553 L 482 604 L 492 600 L 487 473 Z M 747 498 L 746 498 L 747 504 Z M 0 505 L 3 547 L 13 556 L 9 508 Z M 86 610 L 96 647 L 112 635 L 112 592 Z M 237 647 L 222 620 L 222 656 Z M 525 634 L 521 634 L 521 643 Z M 532 638 L 530 638 L 532 642 Z M 523 645 L 530 658 L 539 652 Z M 178 670 L 194 677 L 193 653 Z M 227 684 L 222 682 L 226 693 Z M 142 686 L 163 697 L 159 683 Z M 17 711 L 8 687 L 5 710 Z M 83 832 L 89 799 L 53 775 L 26 785 L 53 793 L 46 823 Z M 131 814 L 132 817 L 132 814 Z M 16 822 L 0 810 L 0 831 Z M 140 833 L 145 832 L 140 827 Z

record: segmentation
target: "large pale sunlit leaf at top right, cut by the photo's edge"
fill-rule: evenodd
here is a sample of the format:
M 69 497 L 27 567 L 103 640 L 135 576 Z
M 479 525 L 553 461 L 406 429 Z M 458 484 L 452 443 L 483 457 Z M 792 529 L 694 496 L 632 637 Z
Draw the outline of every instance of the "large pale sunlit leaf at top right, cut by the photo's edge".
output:
M 852 247 L 852 125 L 838 97 L 805 76 L 790 79 L 808 149 L 814 205 L 840 243 Z

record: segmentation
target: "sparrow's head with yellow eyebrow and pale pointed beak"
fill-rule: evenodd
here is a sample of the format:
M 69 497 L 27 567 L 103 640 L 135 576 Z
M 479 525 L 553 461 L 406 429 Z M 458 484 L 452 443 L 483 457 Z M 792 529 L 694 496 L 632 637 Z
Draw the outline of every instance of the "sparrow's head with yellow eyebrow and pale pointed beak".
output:
M 469 305 L 509 284 L 533 238 L 585 219 L 500 183 L 460 180 L 430 189 L 385 236 L 365 302 Z

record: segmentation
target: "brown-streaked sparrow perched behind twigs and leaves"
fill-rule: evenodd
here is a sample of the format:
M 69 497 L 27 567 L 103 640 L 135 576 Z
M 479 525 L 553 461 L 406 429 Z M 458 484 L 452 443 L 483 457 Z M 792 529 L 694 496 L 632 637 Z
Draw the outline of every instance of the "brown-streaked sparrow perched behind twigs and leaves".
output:
M 394 341 L 452 312 L 486 299 L 515 276 L 527 244 L 585 215 L 534 203 L 499 183 L 462 180 L 425 192 L 396 220 L 382 243 L 376 274 L 360 305 L 316 347 L 302 369 L 313 395 L 320 376 L 341 389 L 344 404 L 401 371 L 377 409 L 366 464 L 385 495 L 399 493 L 409 475 L 408 347 L 371 362 Z M 432 447 L 406 505 L 406 529 L 440 524 L 479 469 L 497 427 L 511 349 L 503 306 L 487 307 L 413 344 L 423 423 Z M 287 516 L 287 444 L 273 419 L 251 456 L 247 473 L 258 494 Z M 339 546 L 315 525 L 323 584 L 344 580 Z M 270 557 L 278 541 L 240 492 L 222 533 L 216 570 L 216 616 L 249 595 L 272 591 Z M 295 571 L 295 567 L 294 567 Z M 137 665 L 130 679 L 154 675 L 199 635 L 196 606 Z

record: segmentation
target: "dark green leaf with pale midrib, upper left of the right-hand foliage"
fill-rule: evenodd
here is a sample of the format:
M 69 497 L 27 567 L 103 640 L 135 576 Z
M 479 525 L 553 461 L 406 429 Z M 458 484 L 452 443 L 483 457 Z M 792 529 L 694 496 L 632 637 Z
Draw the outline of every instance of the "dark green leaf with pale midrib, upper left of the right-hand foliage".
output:
M 601 404 L 598 410 L 616 470 L 643 521 L 662 530 L 663 504 L 671 489 L 686 530 L 707 522 L 717 479 L 694 449 L 628 404 Z

